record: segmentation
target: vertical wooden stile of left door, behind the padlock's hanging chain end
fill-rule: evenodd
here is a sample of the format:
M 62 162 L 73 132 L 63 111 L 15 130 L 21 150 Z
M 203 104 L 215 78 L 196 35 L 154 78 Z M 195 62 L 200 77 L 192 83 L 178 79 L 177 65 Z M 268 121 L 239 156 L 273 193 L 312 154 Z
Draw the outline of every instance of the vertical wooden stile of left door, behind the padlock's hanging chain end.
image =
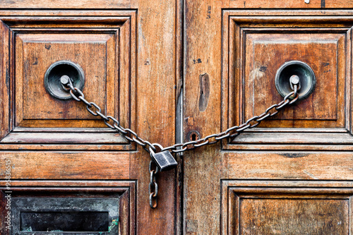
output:
M 136 5 L 134 5 L 136 4 Z M 138 0 L 131 5 L 138 8 L 138 83 L 137 100 L 138 133 L 151 143 L 163 146 L 175 141 L 176 79 L 176 1 Z M 179 53 L 179 52 L 178 52 Z M 143 151 L 142 149 L 140 149 Z M 139 179 L 137 234 L 174 234 L 175 207 L 174 171 L 157 176 L 158 207 L 150 210 L 148 163 L 150 156 L 140 152 L 131 156 L 131 179 Z M 178 197 L 179 198 L 179 197 Z

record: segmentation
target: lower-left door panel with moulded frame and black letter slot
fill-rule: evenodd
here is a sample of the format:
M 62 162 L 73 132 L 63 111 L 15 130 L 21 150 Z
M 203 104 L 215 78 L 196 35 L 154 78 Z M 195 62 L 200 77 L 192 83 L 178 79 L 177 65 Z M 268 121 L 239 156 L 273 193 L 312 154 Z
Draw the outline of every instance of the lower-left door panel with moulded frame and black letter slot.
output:
M 136 181 L 46 181 L 40 188 L 35 181 L 21 184 L 12 188 L 13 234 L 42 234 L 47 228 L 81 234 L 136 233 Z M 4 195 L 1 192 L 1 198 Z

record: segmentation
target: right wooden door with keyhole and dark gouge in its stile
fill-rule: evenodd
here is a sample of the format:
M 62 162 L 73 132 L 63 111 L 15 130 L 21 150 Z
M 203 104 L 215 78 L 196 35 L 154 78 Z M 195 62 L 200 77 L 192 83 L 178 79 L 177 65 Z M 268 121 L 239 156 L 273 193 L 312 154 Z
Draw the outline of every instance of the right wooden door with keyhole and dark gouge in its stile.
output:
M 287 61 L 308 64 L 316 89 L 234 140 L 184 154 L 184 234 L 352 234 L 352 6 L 185 1 L 184 138 L 280 102 Z

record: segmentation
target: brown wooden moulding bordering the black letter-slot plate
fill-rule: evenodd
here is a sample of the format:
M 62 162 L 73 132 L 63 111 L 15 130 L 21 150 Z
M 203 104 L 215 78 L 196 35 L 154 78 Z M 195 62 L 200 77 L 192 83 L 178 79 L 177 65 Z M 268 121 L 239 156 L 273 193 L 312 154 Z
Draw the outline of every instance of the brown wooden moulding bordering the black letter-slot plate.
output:
M 13 181 L 12 186 L 16 191 L 13 198 L 119 198 L 121 234 L 136 234 L 133 226 L 136 220 L 136 181 Z M 1 192 L 1 197 L 4 195 Z

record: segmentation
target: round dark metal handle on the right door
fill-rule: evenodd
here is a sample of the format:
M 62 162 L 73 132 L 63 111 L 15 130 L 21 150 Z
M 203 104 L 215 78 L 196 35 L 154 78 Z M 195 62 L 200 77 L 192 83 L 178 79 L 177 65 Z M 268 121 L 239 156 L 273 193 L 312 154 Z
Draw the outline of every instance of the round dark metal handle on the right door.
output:
M 299 100 L 306 99 L 315 90 L 315 74 L 311 67 L 302 61 L 288 61 L 277 70 L 275 85 L 282 97 L 292 92 L 293 81 L 298 83 Z

